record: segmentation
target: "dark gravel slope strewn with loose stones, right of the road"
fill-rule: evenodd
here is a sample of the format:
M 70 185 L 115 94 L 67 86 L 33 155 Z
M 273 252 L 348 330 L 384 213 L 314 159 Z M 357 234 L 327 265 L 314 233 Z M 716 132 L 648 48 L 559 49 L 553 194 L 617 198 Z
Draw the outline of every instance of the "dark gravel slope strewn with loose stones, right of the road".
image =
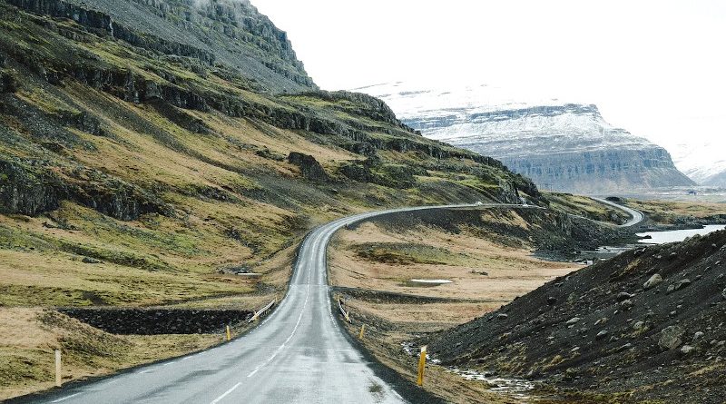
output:
M 444 364 L 603 402 L 722 403 L 724 262 L 726 232 L 628 251 L 425 340 Z

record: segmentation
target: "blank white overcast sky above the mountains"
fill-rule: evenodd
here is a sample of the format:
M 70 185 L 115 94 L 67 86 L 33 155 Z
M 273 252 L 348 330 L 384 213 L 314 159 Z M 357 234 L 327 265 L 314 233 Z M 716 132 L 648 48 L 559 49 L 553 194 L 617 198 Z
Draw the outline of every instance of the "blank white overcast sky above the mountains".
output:
M 327 90 L 490 84 L 669 146 L 726 137 L 726 1 L 251 1 Z

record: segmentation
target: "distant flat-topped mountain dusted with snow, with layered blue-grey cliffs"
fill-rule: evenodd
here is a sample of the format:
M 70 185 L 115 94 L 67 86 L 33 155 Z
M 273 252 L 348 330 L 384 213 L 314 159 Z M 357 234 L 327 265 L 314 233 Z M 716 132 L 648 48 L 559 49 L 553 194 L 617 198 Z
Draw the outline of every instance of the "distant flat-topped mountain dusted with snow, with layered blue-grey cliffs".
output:
M 493 156 L 544 189 L 603 193 L 694 184 L 665 149 L 613 127 L 593 104 L 526 98 L 487 85 L 422 90 L 396 83 L 355 91 L 383 99 L 425 136 Z

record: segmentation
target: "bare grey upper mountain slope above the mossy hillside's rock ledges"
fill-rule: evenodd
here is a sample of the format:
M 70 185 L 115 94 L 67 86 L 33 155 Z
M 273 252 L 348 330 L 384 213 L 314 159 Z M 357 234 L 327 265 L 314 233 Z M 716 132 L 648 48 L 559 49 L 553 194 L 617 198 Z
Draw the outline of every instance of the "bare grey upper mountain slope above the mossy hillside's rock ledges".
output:
M 251 89 L 299 92 L 317 86 L 287 34 L 247 0 L 8 0 L 25 11 L 68 18 L 94 34 L 194 60 L 192 70 L 226 67 Z M 187 61 L 189 63 L 189 61 Z

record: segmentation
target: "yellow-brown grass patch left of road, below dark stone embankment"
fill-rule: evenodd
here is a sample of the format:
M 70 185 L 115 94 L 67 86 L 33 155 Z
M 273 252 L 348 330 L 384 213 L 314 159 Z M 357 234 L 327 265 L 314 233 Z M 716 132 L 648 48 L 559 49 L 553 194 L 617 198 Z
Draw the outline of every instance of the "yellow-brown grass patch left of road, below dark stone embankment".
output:
M 54 310 L 0 308 L 0 397 L 54 386 L 54 350 L 63 352 L 63 379 L 100 376 L 218 343 L 219 335 L 118 336 Z

